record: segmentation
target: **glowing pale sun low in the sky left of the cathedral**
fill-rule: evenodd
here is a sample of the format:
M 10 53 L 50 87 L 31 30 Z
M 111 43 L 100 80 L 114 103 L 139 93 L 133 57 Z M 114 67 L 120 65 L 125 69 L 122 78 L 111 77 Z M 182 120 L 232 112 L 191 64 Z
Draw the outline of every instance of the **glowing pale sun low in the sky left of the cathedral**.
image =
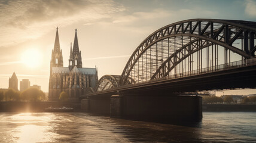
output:
M 42 63 L 42 54 L 38 49 L 28 49 L 22 53 L 21 60 L 28 67 L 39 67 Z

